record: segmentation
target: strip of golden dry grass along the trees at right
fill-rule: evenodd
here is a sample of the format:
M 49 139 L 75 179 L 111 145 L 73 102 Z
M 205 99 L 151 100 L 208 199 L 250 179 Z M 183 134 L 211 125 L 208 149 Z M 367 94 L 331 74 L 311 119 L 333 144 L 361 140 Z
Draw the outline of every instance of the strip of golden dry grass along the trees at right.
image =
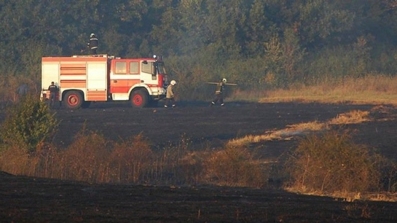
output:
M 261 103 L 349 103 L 397 105 L 397 77 L 367 75 L 361 78 L 335 79 L 315 86 L 295 84 L 288 89 L 264 91 L 235 90 L 232 100 L 248 100 Z

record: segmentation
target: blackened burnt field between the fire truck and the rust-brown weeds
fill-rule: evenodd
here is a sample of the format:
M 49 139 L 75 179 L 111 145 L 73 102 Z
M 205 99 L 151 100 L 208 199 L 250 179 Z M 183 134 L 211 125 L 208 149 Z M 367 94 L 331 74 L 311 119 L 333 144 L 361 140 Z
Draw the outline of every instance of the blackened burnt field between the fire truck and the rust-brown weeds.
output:
M 177 142 L 181 136 L 195 144 L 221 146 L 226 140 L 247 134 L 264 134 L 288 125 L 326 121 L 352 110 L 370 110 L 372 105 L 326 105 L 298 103 L 226 103 L 209 107 L 206 102 L 179 102 L 177 108 L 135 109 L 127 103 L 94 103 L 88 109 L 56 109 L 61 121 L 54 142 L 68 145 L 85 126 L 111 140 L 123 140 L 142 133 L 153 145 Z M 198 145 L 200 146 L 200 145 Z

